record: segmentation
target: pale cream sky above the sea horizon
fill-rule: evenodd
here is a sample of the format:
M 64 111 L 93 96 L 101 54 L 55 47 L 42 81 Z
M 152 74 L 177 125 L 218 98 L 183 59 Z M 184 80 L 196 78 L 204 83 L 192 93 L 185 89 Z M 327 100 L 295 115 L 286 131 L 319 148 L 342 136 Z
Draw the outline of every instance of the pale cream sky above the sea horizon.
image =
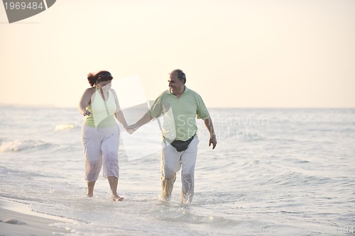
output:
M 354 0 L 58 0 L 11 24 L 1 4 L 0 34 L 0 104 L 76 107 L 101 69 L 154 100 L 179 68 L 209 108 L 355 107 Z

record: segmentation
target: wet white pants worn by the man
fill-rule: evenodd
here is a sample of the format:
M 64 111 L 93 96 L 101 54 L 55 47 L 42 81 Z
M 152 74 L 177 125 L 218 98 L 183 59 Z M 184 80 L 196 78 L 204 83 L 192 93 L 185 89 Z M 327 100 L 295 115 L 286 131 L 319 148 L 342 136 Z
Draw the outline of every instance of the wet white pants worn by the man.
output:
M 163 141 L 163 145 L 164 145 Z M 170 198 L 176 172 L 181 169 L 182 189 L 180 203 L 191 203 L 194 196 L 195 164 L 197 159 L 197 136 L 190 142 L 187 150 L 178 152 L 172 145 L 163 146 L 161 155 L 161 181 L 163 186 L 162 196 Z M 165 142 L 166 143 L 166 142 Z

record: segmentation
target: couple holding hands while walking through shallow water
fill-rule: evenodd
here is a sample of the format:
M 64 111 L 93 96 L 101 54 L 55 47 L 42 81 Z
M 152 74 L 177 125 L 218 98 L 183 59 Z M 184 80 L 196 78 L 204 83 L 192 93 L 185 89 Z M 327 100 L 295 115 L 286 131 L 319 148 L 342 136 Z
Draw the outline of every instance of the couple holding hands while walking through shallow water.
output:
M 180 69 L 170 72 L 169 89 L 164 91 L 153 103 L 147 113 L 133 125 L 127 125 L 114 89 L 113 77 L 107 71 L 88 74 L 90 88 L 80 99 L 79 111 L 85 116 L 82 126 L 82 146 L 85 156 L 85 180 L 87 196 L 94 194 L 94 185 L 101 168 L 109 181 L 111 198 L 123 201 L 117 194 L 119 182 L 119 126 L 116 119 L 124 125 L 128 133 L 133 133 L 153 118 L 170 114 L 163 122 L 163 151 L 161 156 L 162 194 L 160 199 L 167 201 L 173 191 L 176 172 L 181 169 L 182 191 L 180 203 L 189 204 L 194 195 L 194 175 L 197 158 L 196 118 L 204 120 L 209 131 L 209 146 L 217 145 L 212 120 L 199 94 L 185 86 L 186 76 Z M 116 119 L 115 119 L 116 117 Z M 178 130 L 178 132 L 177 132 Z M 172 135 L 173 133 L 173 135 Z

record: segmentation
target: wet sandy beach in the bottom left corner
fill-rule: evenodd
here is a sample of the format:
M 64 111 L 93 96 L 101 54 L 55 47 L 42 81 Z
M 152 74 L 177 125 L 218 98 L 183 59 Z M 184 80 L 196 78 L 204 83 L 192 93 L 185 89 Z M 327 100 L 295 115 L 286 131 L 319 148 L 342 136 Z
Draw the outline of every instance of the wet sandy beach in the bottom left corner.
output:
M 0 236 L 68 235 L 60 223 L 72 220 L 33 212 L 28 205 L 0 198 Z

